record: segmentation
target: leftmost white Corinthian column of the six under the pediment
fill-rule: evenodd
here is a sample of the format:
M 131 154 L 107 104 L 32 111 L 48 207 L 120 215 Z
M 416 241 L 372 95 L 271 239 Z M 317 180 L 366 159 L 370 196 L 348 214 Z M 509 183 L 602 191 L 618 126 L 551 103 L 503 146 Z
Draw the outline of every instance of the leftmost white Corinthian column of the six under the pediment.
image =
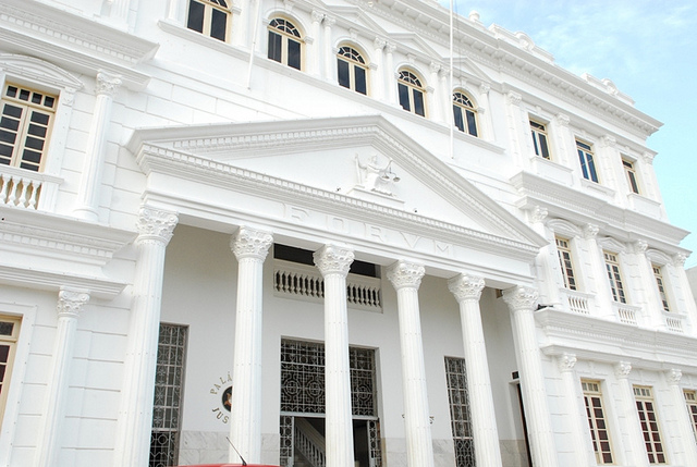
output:
M 172 238 L 174 212 L 142 207 L 135 241 L 137 259 L 133 308 L 124 362 L 114 466 L 147 466 L 152 428 L 155 369 L 160 331 L 164 250 Z

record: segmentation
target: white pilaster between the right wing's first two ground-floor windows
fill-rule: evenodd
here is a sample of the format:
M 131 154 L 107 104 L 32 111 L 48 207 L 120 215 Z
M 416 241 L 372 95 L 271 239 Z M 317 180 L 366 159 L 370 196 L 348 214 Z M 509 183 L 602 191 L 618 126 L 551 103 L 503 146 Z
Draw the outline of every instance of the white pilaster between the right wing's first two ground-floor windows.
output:
M 614 367 L 614 373 L 620 385 L 620 400 L 622 404 L 617 407 L 620 422 L 624 426 L 624 432 L 628 445 L 624 452 L 627 456 L 626 464 L 632 467 L 648 467 L 649 457 L 644 445 L 644 432 L 639 422 L 639 415 L 636 411 L 636 398 L 634 397 L 634 389 L 629 382 L 629 372 L 632 372 L 632 364 L 628 361 L 620 361 Z

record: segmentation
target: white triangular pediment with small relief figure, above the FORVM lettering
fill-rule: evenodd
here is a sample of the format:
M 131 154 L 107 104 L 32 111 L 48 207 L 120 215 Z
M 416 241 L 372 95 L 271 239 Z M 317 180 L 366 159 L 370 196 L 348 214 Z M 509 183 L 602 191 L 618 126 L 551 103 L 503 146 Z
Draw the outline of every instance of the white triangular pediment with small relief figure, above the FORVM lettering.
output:
M 546 244 L 379 115 L 138 130 L 130 147 L 148 175 L 219 183 L 224 189 L 367 220 L 404 235 L 428 232 L 433 238 L 528 259 Z M 379 169 L 391 161 L 387 184 L 366 180 L 365 167 L 374 157 Z M 172 191 L 167 196 L 185 195 Z

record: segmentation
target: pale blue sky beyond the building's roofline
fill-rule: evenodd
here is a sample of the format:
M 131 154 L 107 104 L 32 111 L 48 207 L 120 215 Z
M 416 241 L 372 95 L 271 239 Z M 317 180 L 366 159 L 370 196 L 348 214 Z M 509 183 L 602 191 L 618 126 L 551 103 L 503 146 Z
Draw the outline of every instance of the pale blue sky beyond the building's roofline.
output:
M 610 78 L 663 122 L 648 146 L 671 223 L 696 232 L 681 245 L 695 251 L 685 266 L 697 266 L 697 2 L 455 0 L 456 13 L 473 10 L 487 27 L 526 33 L 566 70 Z

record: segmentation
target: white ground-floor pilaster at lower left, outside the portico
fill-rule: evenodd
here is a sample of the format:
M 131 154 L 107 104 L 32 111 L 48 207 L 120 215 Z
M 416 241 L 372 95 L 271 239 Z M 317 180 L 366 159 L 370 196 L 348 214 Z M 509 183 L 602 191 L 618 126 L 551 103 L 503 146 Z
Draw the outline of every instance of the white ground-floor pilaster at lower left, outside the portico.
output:
M 51 376 L 46 391 L 44 426 L 38 438 L 39 456 L 36 465 L 40 467 L 52 467 L 59 463 L 75 330 L 80 312 L 88 300 L 89 294 L 86 291 L 61 287 L 58 293 L 58 327 L 50 366 Z

